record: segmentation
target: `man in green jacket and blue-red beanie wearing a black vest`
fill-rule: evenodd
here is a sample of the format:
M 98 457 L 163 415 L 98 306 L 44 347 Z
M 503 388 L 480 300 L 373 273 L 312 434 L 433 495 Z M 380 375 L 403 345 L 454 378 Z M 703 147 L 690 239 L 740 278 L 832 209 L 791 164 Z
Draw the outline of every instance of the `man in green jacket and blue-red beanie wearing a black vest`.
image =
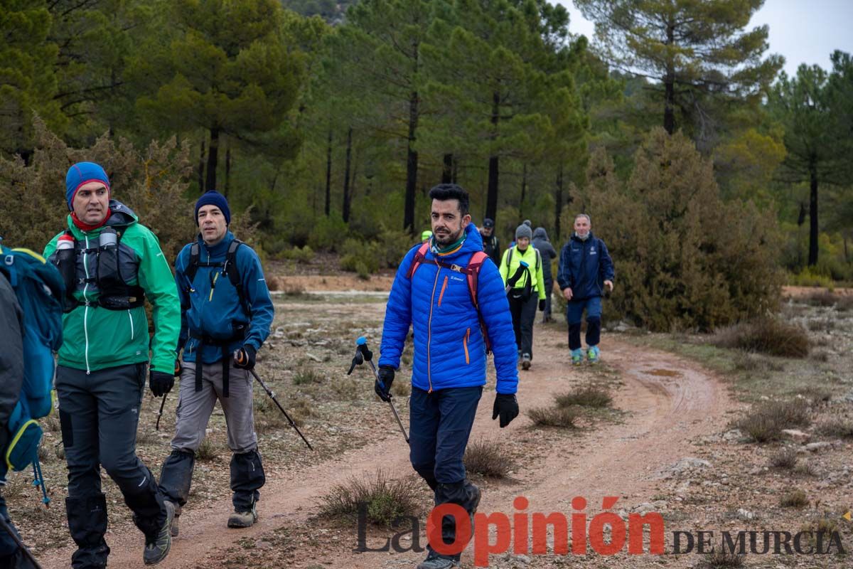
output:
M 100 165 L 79 162 L 68 170 L 66 200 L 68 229 L 49 242 L 44 256 L 67 287 L 55 384 L 68 465 L 68 529 L 78 546 L 72 566 L 107 566 L 101 466 L 145 535 L 143 561 L 154 565 L 169 553 L 174 511 L 136 456 L 136 427 L 149 350 L 151 392 L 165 395 L 175 381 L 177 288 L 157 237 L 130 208 L 110 200 Z M 154 307 L 153 338 L 146 298 Z

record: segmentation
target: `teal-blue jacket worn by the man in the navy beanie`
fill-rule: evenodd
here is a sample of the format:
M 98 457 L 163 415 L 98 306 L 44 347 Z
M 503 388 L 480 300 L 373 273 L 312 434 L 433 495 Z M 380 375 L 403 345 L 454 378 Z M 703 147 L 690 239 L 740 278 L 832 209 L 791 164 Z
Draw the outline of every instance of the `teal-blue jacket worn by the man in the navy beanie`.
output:
M 234 241 L 234 234 L 229 231 L 225 238 L 213 247 L 207 247 L 200 237 L 198 241 L 200 263 L 219 263 L 225 260 L 225 253 L 228 252 L 231 241 Z M 206 267 L 200 264 L 192 283 L 192 291 L 188 292 L 190 282 L 186 270 L 189 265 L 190 247 L 192 243 L 184 246 L 175 261 L 175 282 L 181 305 L 186 306 L 189 303 L 189 309 L 181 311 L 181 335 L 178 340 L 178 349 L 183 346 L 184 361 L 196 361 L 197 346 L 200 342 L 190 338 L 190 334 L 228 340 L 235 335 L 235 327 L 240 325 L 248 325 L 245 339 L 231 342 L 229 351 L 235 351 L 244 344 L 252 345 L 257 351 L 270 335 L 274 311 L 258 254 L 247 245 L 237 248 L 237 270 L 243 284 L 246 305 L 251 312 L 251 315 L 247 315 L 234 285 L 227 275 L 222 274 L 222 267 Z M 203 363 L 214 363 L 221 359 L 221 346 L 205 345 Z

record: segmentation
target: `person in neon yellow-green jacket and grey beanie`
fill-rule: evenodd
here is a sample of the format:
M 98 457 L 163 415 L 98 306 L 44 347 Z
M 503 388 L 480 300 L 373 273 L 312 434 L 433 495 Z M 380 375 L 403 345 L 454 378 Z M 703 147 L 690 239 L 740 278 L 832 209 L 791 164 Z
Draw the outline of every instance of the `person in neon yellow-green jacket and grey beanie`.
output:
M 545 310 L 545 278 L 542 256 L 531 247 L 533 231 L 521 224 L 515 229 L 515 245 L 509 247 L 501 260 L 501 276 L 507 287 L 509 311 L 513 315 L 515 345 L 519 349 L 522 369 L 531 368 L 533 359 L 533 321 L 537 305 Z

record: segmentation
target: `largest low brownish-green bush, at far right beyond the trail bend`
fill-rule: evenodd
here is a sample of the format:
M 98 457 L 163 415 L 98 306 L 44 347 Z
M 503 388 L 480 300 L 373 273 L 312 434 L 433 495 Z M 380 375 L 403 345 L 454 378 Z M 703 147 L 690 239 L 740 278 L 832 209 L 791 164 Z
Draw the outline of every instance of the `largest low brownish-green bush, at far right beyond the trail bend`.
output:
M 803 328 L 769 316 L 717 330 L 711 344 L 777 357 L 809 355 L 809 335 Z

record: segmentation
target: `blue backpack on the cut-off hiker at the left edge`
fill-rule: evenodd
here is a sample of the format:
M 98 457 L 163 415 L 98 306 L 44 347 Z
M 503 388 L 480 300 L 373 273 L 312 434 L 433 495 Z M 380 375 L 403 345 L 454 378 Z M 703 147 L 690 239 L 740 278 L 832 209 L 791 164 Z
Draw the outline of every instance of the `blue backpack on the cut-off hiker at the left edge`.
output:
M 50 499 L 38 463 L 42 427 L 36 419 L 53 409 L 54 353 L 62 345 L 62 303 L 65 285 L 56 267 L 29 249 L 0 245 L 0 271 L 15 290 L 23 313 L 24 381 L 20 398 L 9 416 L 9 445 L 3 449 L 4 465 L 20 471 L 32 464 L 34 486 L 40 486 L 42 502 Z

